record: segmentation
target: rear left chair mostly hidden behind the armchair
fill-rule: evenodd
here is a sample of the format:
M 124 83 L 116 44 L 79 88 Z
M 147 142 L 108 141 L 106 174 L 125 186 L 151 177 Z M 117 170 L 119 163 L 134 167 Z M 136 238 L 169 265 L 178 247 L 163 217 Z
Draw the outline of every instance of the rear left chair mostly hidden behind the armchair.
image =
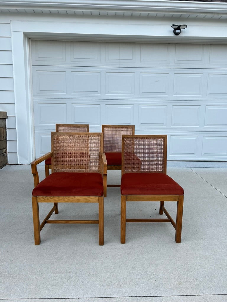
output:
M 56 132 L 89 132 L 89 124 L 56 124 Z M 51 170 L 51 157 L 45 160 L 45 175 Z

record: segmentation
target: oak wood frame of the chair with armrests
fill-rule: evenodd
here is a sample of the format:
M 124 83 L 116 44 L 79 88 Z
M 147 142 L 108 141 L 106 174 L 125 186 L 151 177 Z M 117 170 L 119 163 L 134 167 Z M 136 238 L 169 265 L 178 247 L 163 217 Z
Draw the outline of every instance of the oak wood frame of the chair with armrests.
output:
M 68 133 L 68 134 L 78 134 L 78 133 Z M 81 133 L 79 133 L 81 134 Z M 32 212 L 33 212 L 33 226 L 34 226 L 34 239 L 35 245 L 39 245 L 41 242 L 40 231 L 46 223 L 95 223 L 99 225 L 99 245 L 104 245 L 104 197 L 107 193 L 107 160 L 106 155 L 103 153 L 103 140 L 102 133 L 83 133 L 83 135 L 99 135 L 100 138 L 100 152 L 102 157 L 102 174 L 103 174 L 103 185 L 104 185 L 104 195 L 103 196 L 32 196 Z M 37 165 L 47 159 L 48 157 L 53 156 L 53 152 L 48 152 L 47 154 L 39 157 L 31 163 L 31 172 L 34 178 L 34 186 L 36 187 L 39 184 L 39 175 L 37 171 Z M 47 216 L 44 218 L 40 224 L 39 220 L 39 203 L 50 202 L 54 203 L 54 206 L 51 208 Z M 49 220 L 53 213 L 58 214 L 58 203 L 59 202 L 89 202 L 89 203 L 98 203 L 98 220 Z

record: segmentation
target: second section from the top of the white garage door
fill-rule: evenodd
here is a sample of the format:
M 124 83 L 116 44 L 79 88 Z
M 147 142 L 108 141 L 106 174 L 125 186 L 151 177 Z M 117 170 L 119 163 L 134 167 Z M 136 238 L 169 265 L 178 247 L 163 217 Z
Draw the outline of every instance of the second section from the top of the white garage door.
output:
M 193 72 L 191 69 L 160 69 L 157 68 L 99 68 L 96 67 L 38 67 L 34 66 L 33 95 L 61 98 L 74 95 L 95 97 L 134 96 L 144 99 L 144 96 L 175 98 L 185 96 L 207 98 L 207 96 L 222 99 L 227 95 L 227 75 L 222 72 Z

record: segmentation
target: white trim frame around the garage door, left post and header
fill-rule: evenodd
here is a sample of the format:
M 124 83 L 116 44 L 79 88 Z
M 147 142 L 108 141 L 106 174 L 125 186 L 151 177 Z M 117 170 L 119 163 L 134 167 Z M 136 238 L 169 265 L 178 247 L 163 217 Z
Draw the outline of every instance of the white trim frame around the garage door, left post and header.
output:
M 180 39 L 173 35 L 171 20 L 86 17 L 65 18 L 56 21 L 11 21 L 12 56 L 14 72 L 15 115 L 18 164 L 28 165 L 35 159 L 32 85 L 30 76 L 29 38 L 56 40 L 99 40 L 166 43 L 226 43 L 227 26 L 200 26 L 193 24 L 182 31 Z M 202 22 L 201 22 L 202 23 Z M 207 24 L 206 24 L 207 25 Z

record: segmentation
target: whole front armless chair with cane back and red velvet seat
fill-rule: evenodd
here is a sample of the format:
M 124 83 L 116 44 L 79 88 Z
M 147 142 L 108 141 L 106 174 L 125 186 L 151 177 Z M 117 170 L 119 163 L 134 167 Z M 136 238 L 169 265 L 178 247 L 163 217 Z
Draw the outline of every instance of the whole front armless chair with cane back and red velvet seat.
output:
M 123 135 L 121 177 L 121 233 L 125 243 L 126 222 L 170 222 L 175 241 L 181 242 L 184 190 L 166 175 L 167 135 Z M 126 218 L 126 202 L 159 201 L 164 219 Z M 164 207 L 164 201 L 176 201 L 176 222 Z

